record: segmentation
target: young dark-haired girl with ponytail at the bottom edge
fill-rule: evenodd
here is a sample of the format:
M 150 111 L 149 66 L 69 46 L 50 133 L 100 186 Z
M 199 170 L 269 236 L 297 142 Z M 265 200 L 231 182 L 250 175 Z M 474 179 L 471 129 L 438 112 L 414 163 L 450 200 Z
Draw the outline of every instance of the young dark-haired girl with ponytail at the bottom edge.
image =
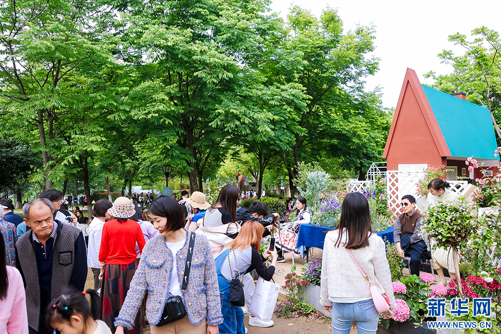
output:
M 79 292 L 74 287 L 65 287 L 63 294 L 49 304 L 46 324 L 61 334 L 111 334 L 104 321 L 96 320 L 100 315 L 101 298 L 96 290 Z

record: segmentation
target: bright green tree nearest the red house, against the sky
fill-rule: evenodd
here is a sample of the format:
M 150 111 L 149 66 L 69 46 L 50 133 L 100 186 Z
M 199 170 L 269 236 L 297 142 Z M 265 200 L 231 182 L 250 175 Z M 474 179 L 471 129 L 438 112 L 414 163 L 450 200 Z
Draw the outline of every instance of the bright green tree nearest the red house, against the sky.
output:
M 293 193 L 299 161 L 311 160 L 323 151 L 331 156 L 345 156 L 346 152 L 340 147 L 347 140 L 350 141 L 348 147 L 357 146 L 363 152 L 370 149 L 366 147 L 369 145 L 352 143 L 361 141 L 366 134 L 355 132 L 346 136 L 342 131 L 346 128 L 366 130 L 367 127 L 360 126 L 364 120 L 358 120 L 355 127 L 352 118 L 373 112 L 367 104 L 373 98 L 378 99 L 374 94 L 365 93 L 363 88 L 363 79 L 378 69 L 378 59 L 368 56 L 374 51 L 374 38 L 373 27 L 358 26 L 345 33 L 336 10 L 327 9 L 316 18 L 298 6 L 291 8 L 287 34 L 277 42 L 284 53 L 288 53 L 290 61 L 272 59 L 267 71 L 270 80 L 301 84 L 309 97 L 306 108 L 296 108 L 288 118 L 288 129 L 294 136 L 291 150 L 280 151 Z M 340 120 L 342 126 L 336 124 Z M 344 138 L 339 138 L 339 134 Z M 354 166 L 355 163 L 358 165 Z M 346 163 L 349 168 L 363 164 L 366 162 L 360 158 Z

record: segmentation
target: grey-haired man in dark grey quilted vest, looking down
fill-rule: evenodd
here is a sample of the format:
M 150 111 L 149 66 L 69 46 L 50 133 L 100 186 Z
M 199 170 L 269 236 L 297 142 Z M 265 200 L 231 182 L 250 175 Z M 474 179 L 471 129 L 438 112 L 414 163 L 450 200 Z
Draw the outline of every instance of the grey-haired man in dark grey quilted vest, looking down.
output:
M 31 231 L 16 243 L 16 266 L 26 288 L 26 306 L 30 334 L 52 333 L 45 326 L 45 314 L 51 300 L 63 286 L 83 291 L 87 279 L 87 254 L 82 231 L 53 219 L 53 206 L 47 198 L 29 201 L 23 206 L 26 225 Z

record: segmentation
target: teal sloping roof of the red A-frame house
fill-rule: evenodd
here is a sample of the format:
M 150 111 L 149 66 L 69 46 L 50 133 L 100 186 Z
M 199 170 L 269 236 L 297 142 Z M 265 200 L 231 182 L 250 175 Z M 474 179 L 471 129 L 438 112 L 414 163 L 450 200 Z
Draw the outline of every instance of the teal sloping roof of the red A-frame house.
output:
M 490 111 L 423 86 L 452 157 L 494 158 L 497 148 Z

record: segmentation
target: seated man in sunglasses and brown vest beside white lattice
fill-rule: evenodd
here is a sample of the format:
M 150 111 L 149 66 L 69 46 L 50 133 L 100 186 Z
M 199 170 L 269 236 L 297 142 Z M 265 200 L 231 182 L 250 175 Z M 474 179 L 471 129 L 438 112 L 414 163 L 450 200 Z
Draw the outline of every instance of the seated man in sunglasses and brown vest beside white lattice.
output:
M 424 217 L 416 210 L 414 196 L 403 196 L 400 205 L 403 213 L 395 220 L 393 239 L 400 256 L 410 257 L 410 274 L 419 276 L 421 259 L 431 259 L 431 253 L 421 237 L 421 224 L 424 222 Z

